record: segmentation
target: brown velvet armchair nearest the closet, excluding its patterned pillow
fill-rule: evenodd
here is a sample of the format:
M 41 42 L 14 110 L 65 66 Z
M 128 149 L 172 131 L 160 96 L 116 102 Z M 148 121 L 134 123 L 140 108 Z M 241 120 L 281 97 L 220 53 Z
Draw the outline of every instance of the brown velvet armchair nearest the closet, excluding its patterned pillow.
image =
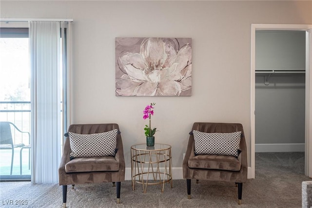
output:
M 191 199 L 191 179 L 234 182 L 238 186 L 238 204 L 241 204 L 243 183 L 247 182 L 247 148 L 243 126 L 228 123 L 194 123 L 193 130 L 207 133 L 232 133 L 241 131 L 238 157 L 225 155 L 195 155 L 194 135 L 183 160 L 183 178 L 187 182 L 188 199 Z

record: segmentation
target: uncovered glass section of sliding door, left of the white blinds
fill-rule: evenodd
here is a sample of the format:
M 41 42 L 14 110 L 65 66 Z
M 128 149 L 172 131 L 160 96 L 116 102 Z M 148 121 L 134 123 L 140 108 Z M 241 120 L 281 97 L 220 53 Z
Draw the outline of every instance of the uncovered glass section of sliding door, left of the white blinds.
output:
M 28 22 L 0 29 L 0 178 L 30 179 Z M 4 26 L 12 26 L 9 22 Z

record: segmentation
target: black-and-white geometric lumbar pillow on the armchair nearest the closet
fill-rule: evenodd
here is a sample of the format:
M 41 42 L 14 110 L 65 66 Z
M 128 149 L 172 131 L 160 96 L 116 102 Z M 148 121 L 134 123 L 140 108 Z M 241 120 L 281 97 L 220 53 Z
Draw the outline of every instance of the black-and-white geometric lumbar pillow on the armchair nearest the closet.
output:
M 206 133 L 193 130 L 195 155 L 229 155 L 238 157 L 241 131 Z

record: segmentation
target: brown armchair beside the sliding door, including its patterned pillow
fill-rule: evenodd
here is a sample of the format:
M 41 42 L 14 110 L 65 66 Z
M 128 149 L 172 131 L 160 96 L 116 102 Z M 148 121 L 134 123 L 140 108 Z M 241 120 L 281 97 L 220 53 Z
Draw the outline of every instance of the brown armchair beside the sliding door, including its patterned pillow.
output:
M 66 136 L 59 166 L 63 207 L 66 208 L 67 185 L 72 185 L 74 188 L 77 184 L 90 183 L 113 182 L 113 186 L 116 183 L 117 203 L 119 203 L 120 182 L 125 179 L 125 160 L 119 126 L 117 124 L 70 125 Z

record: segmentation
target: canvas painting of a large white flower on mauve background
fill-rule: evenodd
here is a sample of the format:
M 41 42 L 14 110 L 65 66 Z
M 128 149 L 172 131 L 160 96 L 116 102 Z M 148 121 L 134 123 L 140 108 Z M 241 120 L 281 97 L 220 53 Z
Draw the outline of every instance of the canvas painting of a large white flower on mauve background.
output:
M 191 38 L 116 38 L 116 96 L 191 96 Z

